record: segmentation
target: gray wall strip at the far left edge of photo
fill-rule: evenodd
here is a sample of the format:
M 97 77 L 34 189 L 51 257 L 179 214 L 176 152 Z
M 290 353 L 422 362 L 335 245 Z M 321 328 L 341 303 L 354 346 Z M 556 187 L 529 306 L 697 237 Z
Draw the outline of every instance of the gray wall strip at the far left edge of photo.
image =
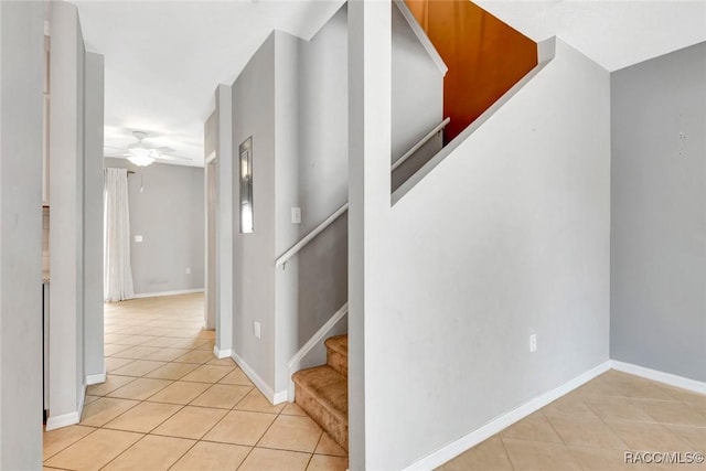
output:
M 0 2 L 0 469 L 42 467 L 41 2 Z

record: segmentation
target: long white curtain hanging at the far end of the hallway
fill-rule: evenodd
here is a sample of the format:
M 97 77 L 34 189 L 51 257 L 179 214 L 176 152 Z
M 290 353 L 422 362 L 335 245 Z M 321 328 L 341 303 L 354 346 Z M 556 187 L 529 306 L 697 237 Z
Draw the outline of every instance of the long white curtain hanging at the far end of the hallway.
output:
M 130 267 L 128 171 L 105 169 L 103 188 L 103 297 L 106 301 L 122 301 L 135 297 Z

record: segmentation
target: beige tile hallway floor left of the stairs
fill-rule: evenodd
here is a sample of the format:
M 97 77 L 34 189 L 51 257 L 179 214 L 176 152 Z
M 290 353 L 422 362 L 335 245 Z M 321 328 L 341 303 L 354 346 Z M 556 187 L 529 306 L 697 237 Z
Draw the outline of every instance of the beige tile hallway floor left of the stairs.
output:
M 272 406 L 201 329 L 203 295 L 105 308 L 107 381 L 79 425 L 44 432 L 44 470 L 343 471 L 298 406 Z

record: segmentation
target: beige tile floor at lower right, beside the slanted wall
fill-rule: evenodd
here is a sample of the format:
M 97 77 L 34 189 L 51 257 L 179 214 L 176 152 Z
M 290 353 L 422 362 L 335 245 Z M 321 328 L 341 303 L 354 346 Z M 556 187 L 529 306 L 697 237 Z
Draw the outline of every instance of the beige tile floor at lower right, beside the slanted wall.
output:
M 706 470 L 625 463 L 627 451 L 706 453 L 706 396 L 609 371 L 438 470 Z

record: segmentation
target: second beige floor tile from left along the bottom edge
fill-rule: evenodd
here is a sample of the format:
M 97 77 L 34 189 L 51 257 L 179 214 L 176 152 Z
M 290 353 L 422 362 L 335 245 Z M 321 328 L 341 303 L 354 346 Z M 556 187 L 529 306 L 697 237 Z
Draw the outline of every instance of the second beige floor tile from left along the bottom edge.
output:
M 168 470 L 195 441 L 148 435 L 111 461 L 105 471 Z

